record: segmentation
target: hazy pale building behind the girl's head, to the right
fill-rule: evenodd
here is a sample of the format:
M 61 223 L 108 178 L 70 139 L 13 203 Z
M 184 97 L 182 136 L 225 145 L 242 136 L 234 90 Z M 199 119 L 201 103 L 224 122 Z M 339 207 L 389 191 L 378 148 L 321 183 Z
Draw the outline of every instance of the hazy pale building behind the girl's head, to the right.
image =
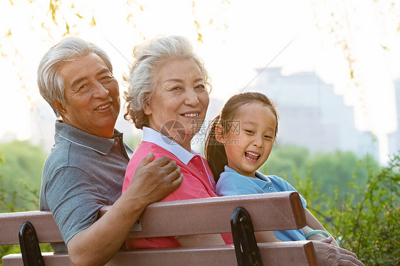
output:
M 256 85 L 246 88 L 263 92 L 276 103 L 279 144 L 307 147 L 311 153 L 335 149 L 353 151 L 357 156 L 369 153 L 379 160 L 374 136 L 355 128 L 353 108 L 335 95 L 333 85 L 324 83 L 315 73 L 283 76 L 280 70 L 263 70 Z

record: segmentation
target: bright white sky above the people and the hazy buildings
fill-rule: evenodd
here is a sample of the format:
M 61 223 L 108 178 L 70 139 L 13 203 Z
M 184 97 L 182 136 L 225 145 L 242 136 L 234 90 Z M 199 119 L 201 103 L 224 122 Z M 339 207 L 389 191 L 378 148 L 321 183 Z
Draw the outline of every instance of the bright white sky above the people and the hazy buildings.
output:
M 6 132 L 16 133 L 19 139 L 30 137 L 31 112 L 36 112 L 33 107 L 42 101 L 36 85 L 38 62 L 63 38 L 65 21 L 72 35 L 106 50 L 119 80 L 135 45 L 159 35 L 181 35 L 194 43 L 204 59 L 212 78 L 211 97 L 227 100 L 253 80 L 256 68 L 264 68 L 279 54 L 270 67 L 282 67 L 284 75 L 315 71 L 325 83 L 334 84 L 335 92 L 354 106 L 356 126 L 372 130 L 381 143 L 387 142 L 386 134 L 397 127 L 393 80 L 400 78 L 399 3 L 197 0 L 193 6 L 187 0 L 60 2 L 58 25 L 51 19 L 48 0 L 0 2 L 0 138 Z M 95 26 L 90 26 L 93 16 Z M 197 42 L 196 25 L 202 42 Z M 345 45 L 348 50 L 343 49 Z M 348 54 L 354 60 L 353 81 L 349 80 Z M 124 85 L 120 89 L 124 90 Z M 49 114 L 50 108 L 41 115 Z

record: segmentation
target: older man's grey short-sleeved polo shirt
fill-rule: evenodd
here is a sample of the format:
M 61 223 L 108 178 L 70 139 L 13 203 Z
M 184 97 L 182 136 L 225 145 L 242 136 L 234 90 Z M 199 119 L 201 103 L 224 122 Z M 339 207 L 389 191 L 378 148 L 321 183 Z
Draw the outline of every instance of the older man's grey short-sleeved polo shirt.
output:
M 50 210 L 65 243 L 88 228 L 102 206 L 121 196 L 132 150 L 115 138 L 98 137 L 56 121 L 55 144 L 43 166 L 40 210 Z

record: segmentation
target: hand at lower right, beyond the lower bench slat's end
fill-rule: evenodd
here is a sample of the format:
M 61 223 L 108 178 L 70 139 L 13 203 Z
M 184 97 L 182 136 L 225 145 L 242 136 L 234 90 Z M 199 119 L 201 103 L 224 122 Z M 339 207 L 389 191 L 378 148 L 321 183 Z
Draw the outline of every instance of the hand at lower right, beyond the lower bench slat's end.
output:
M 357 256 L 335 245 L 329 243 L 323 243 L 320 240 L 312 241 L 315 248 L 315 255 L 317 256 L 318 265 L 321 266 L 364 266 L 364 263 L 360 262 Z

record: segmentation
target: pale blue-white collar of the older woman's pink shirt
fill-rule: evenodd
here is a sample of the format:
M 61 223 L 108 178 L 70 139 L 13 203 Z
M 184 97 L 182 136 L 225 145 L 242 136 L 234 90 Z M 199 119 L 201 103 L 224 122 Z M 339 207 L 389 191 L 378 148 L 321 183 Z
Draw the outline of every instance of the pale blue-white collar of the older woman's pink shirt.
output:
M 201 155 L 191 149 L 191 152 L 186 151 L 181 145 L 177 144 L 177 142 L 172 141 L 168 137 L 164 136 L 160 132 L 155 131 L 149 127 L 143 127 L 143 137 L 142 142 L 151 142 L 167 151 L 171 152 L 184 164 L 189 164 L 189 161 L 193 159 L 196 155 Z

